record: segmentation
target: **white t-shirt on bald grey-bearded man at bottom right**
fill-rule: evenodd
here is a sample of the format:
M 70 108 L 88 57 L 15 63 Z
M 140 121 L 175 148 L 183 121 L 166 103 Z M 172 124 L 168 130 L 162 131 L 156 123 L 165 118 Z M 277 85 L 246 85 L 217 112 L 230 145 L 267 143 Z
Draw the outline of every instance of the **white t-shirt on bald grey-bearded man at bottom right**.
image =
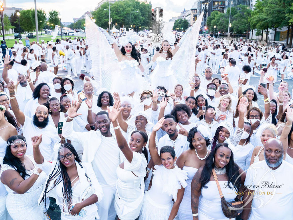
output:
M 254 195 L 249 220 L 293 219 L 292 182 L 293 165 L 285 160 L 276 170 L 270 169 L 265 160 L 252 164 L 247 170 L 244 185 L 248 189 L 265 194 Z M 278 187 L 272 188 L 270 185 Z

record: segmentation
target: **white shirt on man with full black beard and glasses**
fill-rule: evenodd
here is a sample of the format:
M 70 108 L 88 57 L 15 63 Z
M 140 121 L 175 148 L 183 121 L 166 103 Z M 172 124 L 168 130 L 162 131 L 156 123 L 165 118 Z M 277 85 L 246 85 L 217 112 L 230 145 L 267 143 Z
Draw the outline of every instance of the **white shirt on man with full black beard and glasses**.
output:
M 31 138 L 42 134 L 40 151 L 45 160 L 52 161 L 54 157 L 54 144 L 60 141 L 56 128 L 48 124 L 45 128 L 40 129 L 34 125 L 33 120 L 30 117 L 25 116 L 22 131 L 27 142 L 26 154 L 33 155 L 33 144 Z

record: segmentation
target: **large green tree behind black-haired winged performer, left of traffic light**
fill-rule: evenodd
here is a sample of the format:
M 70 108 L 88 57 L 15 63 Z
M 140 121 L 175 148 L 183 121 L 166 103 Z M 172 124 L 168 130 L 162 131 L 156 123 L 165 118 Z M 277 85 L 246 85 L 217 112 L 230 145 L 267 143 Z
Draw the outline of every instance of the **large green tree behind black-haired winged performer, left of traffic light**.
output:
M 96 19 L 96 24 L 102 28 L 108 28 L 109 24 L 109 3 L 105 2 L 99 9 L 92 12 Z M 138 12 L 136 12 L 138 11 Z M 151 5 L 147 2 L 138 0 L 115 1 L 111 4 L 112 25 L 117 23 L 118 27 L 129 28 L 134 25 L 135 29 L 139 26 L 151 26 Z

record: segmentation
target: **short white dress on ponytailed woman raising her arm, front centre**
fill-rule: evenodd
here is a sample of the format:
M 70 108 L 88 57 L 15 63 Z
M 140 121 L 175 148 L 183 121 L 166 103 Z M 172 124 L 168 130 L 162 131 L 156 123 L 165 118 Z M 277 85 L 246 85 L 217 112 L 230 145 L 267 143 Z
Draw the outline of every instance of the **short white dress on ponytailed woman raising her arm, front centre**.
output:
M 131 163 L 124 160 L 124 168 L 117 167 L 115 211 L 121 220 L 137 219 L 144 197 L 144 177 L 147 160 L 144 154 L 133 152 Z

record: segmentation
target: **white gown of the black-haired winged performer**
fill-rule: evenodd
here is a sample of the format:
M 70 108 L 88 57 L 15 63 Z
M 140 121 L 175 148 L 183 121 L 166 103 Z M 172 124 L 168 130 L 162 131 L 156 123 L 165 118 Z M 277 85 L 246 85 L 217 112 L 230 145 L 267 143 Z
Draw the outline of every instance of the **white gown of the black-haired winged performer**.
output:
M 137 60 L 122 60 L 119 65 L 120 74 L 115 76 L 111 91 L 128 95 L 141 89 L 142 78 L 137 73 L 140 72 Z

